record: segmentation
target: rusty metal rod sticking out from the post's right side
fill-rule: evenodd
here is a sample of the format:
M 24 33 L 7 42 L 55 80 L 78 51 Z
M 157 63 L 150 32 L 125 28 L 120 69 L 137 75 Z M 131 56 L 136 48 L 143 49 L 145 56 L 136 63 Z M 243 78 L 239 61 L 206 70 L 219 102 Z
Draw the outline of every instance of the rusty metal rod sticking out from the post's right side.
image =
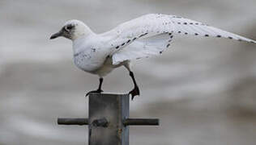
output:
M 159 126 L 158 118 L 126 118 L 125 126 Z

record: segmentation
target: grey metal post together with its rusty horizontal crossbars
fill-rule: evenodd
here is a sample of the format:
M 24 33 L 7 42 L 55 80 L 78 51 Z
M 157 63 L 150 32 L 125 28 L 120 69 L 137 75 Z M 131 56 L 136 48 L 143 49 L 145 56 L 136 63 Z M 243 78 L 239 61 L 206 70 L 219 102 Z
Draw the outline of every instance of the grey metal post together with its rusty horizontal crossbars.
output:
M 59 125 L 88 125 L 89 145 L 129 145 L 129 126 L 157 126 L 157 118 L 129 118 L 129 94 L 91 93 L 89 118 L 58 118 Z

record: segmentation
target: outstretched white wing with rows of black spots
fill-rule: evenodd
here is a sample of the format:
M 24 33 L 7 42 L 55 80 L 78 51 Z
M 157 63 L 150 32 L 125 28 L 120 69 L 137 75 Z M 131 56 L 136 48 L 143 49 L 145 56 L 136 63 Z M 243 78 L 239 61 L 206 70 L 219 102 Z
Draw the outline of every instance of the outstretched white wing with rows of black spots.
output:
M 169 43 L 176 34 L 212 36 L 256 44 L 253 39 L 247 39 L 194 20 L 166 14 L 143 15 L 122 23 L 102 36 L 109 39 L 113 48 L 113 64 L 119 64 L 124 60 L 160 54 L 165 48 L 169 48 Z

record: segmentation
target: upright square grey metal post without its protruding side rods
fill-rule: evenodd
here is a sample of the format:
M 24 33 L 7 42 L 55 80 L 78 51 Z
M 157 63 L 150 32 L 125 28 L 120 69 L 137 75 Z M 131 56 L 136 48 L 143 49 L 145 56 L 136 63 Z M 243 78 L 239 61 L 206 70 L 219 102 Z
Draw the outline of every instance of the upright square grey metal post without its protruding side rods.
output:
M 89 95 L 89 145 L 128 145 L 129 128 L 122 120 L 129 117 L 129 95 Z M 92 122 L 106 118 L 108 127 L 94 126 Z

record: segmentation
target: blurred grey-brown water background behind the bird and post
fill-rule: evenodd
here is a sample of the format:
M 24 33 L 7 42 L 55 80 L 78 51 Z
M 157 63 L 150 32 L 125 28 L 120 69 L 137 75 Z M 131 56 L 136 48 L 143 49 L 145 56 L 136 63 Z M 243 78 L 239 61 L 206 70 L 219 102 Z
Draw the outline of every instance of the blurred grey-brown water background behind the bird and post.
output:
M 177 14 L 256 39 L 255 6 L 255 0 L 1 0 L 0 145 L 87 144 L 87 126 L 56 122 L 87 117 L 83 96 L 98 85 L 98 77 L 73 64 L 69 40 L 49 40 L 66 20 L 100 33 L 143 14 Z M 130 116 L 160 118 L 160 126 L 131 126 L 130 144 L 255 144 L 256 45 L 174 39 L 162 56 L 134 63 L 141 96 L 130 103 Z M 111 93 L 132 87 L 125 68 L 103 85 Z

